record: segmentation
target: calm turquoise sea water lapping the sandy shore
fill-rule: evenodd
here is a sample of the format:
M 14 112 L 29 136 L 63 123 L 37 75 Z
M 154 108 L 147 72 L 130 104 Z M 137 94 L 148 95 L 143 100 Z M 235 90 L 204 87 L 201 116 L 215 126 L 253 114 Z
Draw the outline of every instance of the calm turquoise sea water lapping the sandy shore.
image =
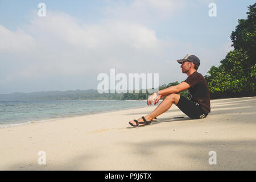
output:
M 0 128 L 146 106 L 146 101 L 117 100 L 0 101 Z

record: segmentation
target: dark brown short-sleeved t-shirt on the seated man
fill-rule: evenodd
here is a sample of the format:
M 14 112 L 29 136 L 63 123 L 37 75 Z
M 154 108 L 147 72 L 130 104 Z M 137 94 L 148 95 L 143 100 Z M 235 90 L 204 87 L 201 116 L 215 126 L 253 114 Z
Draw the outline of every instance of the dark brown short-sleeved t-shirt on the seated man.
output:
M 203 75 L 194 72 L 185 82 L 191 86 L 188 88 L 189 100 L 197 102 L 205 114 L 210 113 L 210 92 Z

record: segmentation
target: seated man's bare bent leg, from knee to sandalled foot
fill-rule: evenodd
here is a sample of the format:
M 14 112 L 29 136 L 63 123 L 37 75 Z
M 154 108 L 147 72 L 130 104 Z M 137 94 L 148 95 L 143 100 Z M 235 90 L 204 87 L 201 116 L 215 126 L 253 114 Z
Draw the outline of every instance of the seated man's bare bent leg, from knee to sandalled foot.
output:
M 163 114 L 168 109 L 170 109 L 173 103 L 177 105 L 179 100 L 180 100 L 179 94 L 176 94 L 176 93 L 169 94 L 166 98 L 164 98 L 161 104 L 159 104 L 159 106 L 155 108 L 155 110 L 153 110 L 150 114 L 145 116 L 146 121 L 152 121 L 153 118 L 158 117 L 158 115 Z M 143 119 L 139 118 L 137 119 L 137 121 L 143 122 Z M 136 125 L 135 121 L 130 121 L 130 122 Z M 140 124 L 139 126 L 141 125 L 144 125 L 144 124 Z

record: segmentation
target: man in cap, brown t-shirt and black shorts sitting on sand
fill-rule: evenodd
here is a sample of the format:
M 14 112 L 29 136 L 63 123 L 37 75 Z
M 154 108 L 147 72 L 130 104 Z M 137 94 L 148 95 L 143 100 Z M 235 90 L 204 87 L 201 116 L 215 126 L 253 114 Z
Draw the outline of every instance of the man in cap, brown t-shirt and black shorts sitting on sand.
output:
M 145 117 L 130 121 L 131 126 L 143 126 L 151 123 L 152 119 L 166 112 L 174 103 L 183 113 L 191 119 L 201 119 L 207 117 L 210 113 L 210 93 L 208 84 L 203 75 L 197 72 L 200 60 L 195 55 L 186 55 L 183 59 L 177 60 L 181 64 L 182 72 L 188 75 L 188 78 L 179 85 L 159 90 L 151 94 L 147 100 L 147 105 L 158 104 L 162 96 L 166 96 L 161 104 L 156 107 L 152 113 Z M 180 96 L 179 92 L 188 89 L 189 100 Z

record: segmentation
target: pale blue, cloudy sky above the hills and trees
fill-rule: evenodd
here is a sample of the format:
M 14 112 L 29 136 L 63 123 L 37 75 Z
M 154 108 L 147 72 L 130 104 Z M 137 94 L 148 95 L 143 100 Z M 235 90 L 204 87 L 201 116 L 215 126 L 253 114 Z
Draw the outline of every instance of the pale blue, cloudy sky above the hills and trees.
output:
M 187 75 L 176 60 L 188 53 L 208 75 L 233 49 L 230 35 L 253 3 L 0 0 L 0 94 L 97 89 L 97 76 L 110 69 L 159 73 L 160 85 L 181 82 Z

